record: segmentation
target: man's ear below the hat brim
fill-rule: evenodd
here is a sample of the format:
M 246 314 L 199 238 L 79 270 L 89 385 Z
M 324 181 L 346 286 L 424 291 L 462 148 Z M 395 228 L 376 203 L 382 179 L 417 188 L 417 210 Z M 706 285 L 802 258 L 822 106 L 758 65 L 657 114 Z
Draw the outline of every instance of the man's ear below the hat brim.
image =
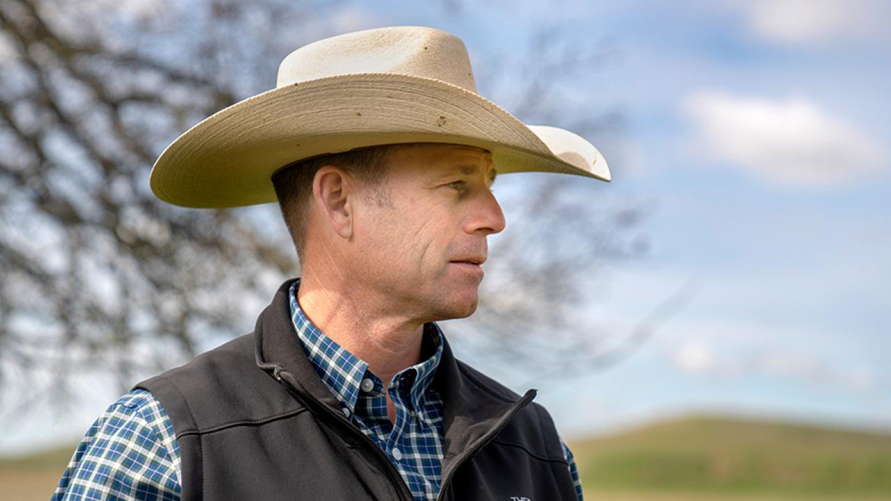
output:
M 320 168 L 313 177 L 313 199 L 328 226 L 343 238 L 353 236 L 353 208 L 355 183 L 342 169 L 331 165 Z

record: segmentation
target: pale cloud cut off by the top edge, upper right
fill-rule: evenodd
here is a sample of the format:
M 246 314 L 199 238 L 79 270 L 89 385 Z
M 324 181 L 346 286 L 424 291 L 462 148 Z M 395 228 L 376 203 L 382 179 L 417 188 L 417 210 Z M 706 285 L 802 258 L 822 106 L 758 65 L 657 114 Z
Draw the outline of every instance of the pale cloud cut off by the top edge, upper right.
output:
M 887 5 L 879 0 L 748 0 L 734 3 L 760 38 L 788 45 L 874 37 Z

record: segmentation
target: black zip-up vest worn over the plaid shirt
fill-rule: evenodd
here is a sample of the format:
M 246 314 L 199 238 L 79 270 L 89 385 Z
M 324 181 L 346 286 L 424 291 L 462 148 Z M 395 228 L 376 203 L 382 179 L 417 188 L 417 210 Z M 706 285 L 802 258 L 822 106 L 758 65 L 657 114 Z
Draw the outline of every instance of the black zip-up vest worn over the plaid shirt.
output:
M 288 281 L 253 333 L 136 388 L 167 410 L 192 499 L 402 499 L 411 491 L 383 451 L 341 413 L 299 345 Z M 444 347 L 440 499 L 576 499 L 551 417 Z

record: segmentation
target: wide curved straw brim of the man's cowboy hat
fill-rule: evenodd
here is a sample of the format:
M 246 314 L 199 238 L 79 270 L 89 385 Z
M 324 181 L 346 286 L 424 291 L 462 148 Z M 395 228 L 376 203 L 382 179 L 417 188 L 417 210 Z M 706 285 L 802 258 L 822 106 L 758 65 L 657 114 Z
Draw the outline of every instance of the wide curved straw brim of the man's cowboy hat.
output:
M 362 73 L 257 94 L 179 136 L 151 168 L 163 201 L 225 208 L 276 201 L 271 177 L 294 161 L 378 144 L 467 144 L 495 169 L 609 181 L 601 153 L 580 136 L 527 126 L 479 94 L 433 78 Z

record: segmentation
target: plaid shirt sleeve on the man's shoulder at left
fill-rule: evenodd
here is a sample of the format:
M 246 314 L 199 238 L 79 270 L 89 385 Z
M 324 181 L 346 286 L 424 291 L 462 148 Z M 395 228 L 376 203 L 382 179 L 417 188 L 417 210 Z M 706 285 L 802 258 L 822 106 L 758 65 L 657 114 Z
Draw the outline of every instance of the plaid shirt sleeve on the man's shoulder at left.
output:
M 133 390 L 86 432 L 51 501 L 179 501 L 180 468 L 167 412 L 150 392 Z

